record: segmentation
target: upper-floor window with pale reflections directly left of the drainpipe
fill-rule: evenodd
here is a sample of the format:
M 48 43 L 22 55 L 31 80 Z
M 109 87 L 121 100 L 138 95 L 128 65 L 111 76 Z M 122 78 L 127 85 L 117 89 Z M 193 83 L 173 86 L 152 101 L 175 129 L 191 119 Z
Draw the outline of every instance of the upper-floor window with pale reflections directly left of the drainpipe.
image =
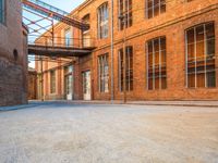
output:
M 104 3 L 98 8 L 98 37 L 108 37 L 108 3 Z

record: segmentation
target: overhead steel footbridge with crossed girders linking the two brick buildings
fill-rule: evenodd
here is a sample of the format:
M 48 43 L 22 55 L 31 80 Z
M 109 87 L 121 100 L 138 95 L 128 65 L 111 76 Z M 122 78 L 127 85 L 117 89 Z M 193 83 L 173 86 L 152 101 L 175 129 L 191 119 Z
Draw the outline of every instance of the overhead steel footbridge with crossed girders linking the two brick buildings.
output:
M 85 45 L 80 38 L 70 38 L 73 45 L 57 45 L 55 37 L 55 21 L 62 22 L 69 26 L 76 27 L 82 32 L 89 29 L 89 24 L 75 16 L 70 15 L 68 12 L 47 4 L 40 0 L 22 0 L 23 10 L 28 14 L 37 16 L 37 20 L 32 20 L 32 16 L 24 16 L 25 25 L 29 29 L 28 35 L 28 53 L 43 57 L 83 57 L 89 54 L 94 49 L 92 43 Z M 40 22 L 47 21 L 48 25 L 41 25 Z M 35 43 L 35 40 L 39 37 L 46 36 L 46 41 Z M 60 39 L 60 38 L 59 38 Z M 65 39 L 65 38 L 61 38 Z M 68 38 L 69 39 L 69 38 Z M 47 42 L 47 40 L 49 40 Z M 86 40 L 87 41 L 87 40 Z M 88 40 L 92 41 L 90 39 Z M 64 40 L 62 41 L 64 42 Z

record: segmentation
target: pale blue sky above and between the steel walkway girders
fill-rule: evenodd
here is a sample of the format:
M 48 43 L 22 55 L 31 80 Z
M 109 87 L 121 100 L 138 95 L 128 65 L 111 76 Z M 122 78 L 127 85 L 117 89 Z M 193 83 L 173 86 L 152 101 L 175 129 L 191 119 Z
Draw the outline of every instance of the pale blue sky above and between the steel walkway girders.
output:
M 71 12 L 73 9 L 75 9 L 76 7 L 78 7 L 82 2 L 84 2 L 85 0 L 41 0 L 48 4 L 51 4 L 58 9 L 61 9 L 63 11 L 66 11 L 66 12 Z M 23 12 L 24 16 L 27 17 L 28 20 L 32 20 L 32 21 L 36 21 L 38 20 L 37 16 L 33 15 L 33 14 L 29 14 L 28 12 Z M 24 23 L 28 24 L 29 22 L 24 20 Z M 48 24 L 48 22 L 40 22 L 40 25 L 43 26 L 46 26 Z M 38 27 L 33 25 L 31 26 L 33 27 L 34 29 L 37 29 Z M 43 32 L 41 32 L 43 33 Z M 33 35 L 38 35 L 38 34 L 33 34 Z M 35 36 L 33 36 L 33 40 L 35 39 Z M 29 37 L 29 40 L 32 40 L 32 38 Z M 34 59 L 33 59 L 34 60 Z M 31 67 L 35 67 L 35 62 L 31 62 L 29 63 L 29 66 Z

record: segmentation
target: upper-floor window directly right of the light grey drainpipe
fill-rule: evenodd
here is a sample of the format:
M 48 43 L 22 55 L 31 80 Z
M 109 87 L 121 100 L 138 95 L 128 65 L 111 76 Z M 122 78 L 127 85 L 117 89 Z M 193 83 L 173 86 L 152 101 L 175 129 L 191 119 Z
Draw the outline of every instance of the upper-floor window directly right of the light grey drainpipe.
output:
M 128 28 L 133 24 L 132 0 L 119 0 L 119 28 Z

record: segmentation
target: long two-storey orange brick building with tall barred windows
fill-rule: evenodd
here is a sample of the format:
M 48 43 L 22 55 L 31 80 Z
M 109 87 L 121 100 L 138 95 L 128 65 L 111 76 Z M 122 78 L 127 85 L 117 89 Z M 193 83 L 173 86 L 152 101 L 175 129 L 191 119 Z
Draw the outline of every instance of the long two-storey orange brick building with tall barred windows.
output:
M 55 36 L 65 38 L 56 42 L 95 49 L 46 59 L 45 99 L 118 100 L 123 88 L 129 100 L 218 99 L 217 0 L 114 0 L 112 13 L 110 0 L 86 0 L 71 16 L 88 22 L 89 30 L 55 26 Z

